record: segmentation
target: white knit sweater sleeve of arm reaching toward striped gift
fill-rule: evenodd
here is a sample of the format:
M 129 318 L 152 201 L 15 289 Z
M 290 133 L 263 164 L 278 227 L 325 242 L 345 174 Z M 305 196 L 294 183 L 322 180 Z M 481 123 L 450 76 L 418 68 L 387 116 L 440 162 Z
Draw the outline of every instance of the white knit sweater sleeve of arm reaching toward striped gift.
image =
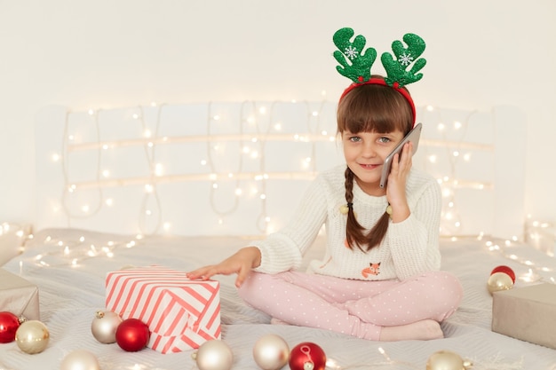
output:
M 256 272 L 278 273 L 298 268 L 326 219 L 326 194 L 322 177 L 309 185 L 290 222 L 265 240 L 257 240 L 261 263 Z

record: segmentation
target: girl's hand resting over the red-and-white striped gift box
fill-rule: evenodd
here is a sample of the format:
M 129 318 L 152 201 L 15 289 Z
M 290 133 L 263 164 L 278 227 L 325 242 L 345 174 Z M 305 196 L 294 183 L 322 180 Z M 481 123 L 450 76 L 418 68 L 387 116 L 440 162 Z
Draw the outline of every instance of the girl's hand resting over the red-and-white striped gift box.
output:
M 241 287 L 252 268 L 260 264 L 260 251 L 257 247 L 246 247 L 238 250 L 219 264 L 210 264 L 192 272 L 187 272 L 189 279 L 208 280 L 214 275 L 231 275 L 237 273 L 235 287 Z

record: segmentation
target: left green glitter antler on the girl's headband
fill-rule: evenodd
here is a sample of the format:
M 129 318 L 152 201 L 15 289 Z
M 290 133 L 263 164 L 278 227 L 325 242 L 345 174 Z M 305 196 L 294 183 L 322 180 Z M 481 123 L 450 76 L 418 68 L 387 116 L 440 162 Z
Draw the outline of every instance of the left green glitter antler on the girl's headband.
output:
M 373 48 L 363 51 L 365 37 L 357 35 L 353 43 L 350 41 L 352 37 L 352 28 L 340 28 L 332 37 L 338 47 L 338 51 L 334 51 L 333 54 L 340 64 L 336 69 L 340 75 L 346 76 L 354 83 L 364 83 L 370 79 L 370 67 L 377 59 L 377 51 Z

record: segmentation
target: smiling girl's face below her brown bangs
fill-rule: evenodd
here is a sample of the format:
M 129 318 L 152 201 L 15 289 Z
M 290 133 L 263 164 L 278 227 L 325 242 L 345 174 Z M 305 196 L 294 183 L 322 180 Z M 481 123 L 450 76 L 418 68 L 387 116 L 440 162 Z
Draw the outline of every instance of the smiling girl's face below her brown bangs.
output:
M 384 195 L 380 175 L 385 158 L 403 138 L 401 130 L 388 133 L 342 132 L 346 164 L 355 175 L 357 184 L 369 195 Z

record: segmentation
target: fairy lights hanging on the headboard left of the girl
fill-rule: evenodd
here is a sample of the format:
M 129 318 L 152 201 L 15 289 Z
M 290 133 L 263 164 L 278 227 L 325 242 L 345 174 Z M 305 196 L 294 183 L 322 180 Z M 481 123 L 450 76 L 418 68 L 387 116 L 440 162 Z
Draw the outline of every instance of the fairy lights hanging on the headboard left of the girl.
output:
M 260 214 L 257 217 L 258 232 L 268 233 L 273 231 L 273 224 L 271 218 L 266 210 L 266 184 L 267 181 L 273 179 L 311 179 L 315 176 L 315 164 L 317 161 L 315 155 L 315 143 L 330 142 L 335 143 L 335 133 L 331 134 L 327 130 L 322 130 L 320 127 L 320 117 L 323 103 L 319 103 L 316 108 L 312 108 L 309 103 L 301 102 L 296 103 L 298 106 L 304 106 L 306 109 L 305 120 L 306 127 L 302 127 L 301 133 L 281 133 L 282 123 L 274 119 L 275 109 L 274 106 L 282 104 L 282 102 L 272 102 L 266 104 L 257 104 L 255 102 L 244 102 L 241 106 L 239 119 L 234 120 L 232 123 L 229 121 L 226 124 L 229 126 L 234 125 L 234 133 L 218 134 L 213 130 L 222 124 L 222 114 L 215 112 L 212 104 L 207 106 L 206 124 L 204 125 L 206 132 L 204 135 L 182 135 L 182 136 L 164 136 L 158 134 L 158 129 L 161 124 L 161 116 L 163 115 L 163 106 L 157 106 L 158 114 L 155 122 L 155 129 L 150 130 L 147 128 L 145 122 L 145 114 L 143 107 L 139 106 L 139 113 L 133 114 L 133 118 L 141 123 L 143 130 L 142 138 L 117 140 L 117 141 L 102 141 L 99 138 L 99 116 L 102 111 L 89 111 L 92 124 L 95 127 L 96 138 L 89 140 L 85 143 L 76 142 L 75 138 L 78 136 L 68 132 L 70 114 L 67 114 L 67 120 L 64 130 L 64 146 L 62 154 L 56 154 L 54 158 L 56 161 L 61 161 L 64 173 L 64 192 L 62 195 L 62 206 L 64 213 L 68 216 L 68 222 L 71 223 L 72 219 L 86 218 L 95 216 L 99 209 L 103 206 L 111 207 L 114 200 L 111 198 L 103 199 L 103 189 L 110 187 L 123 187 L 128 185 L 143 184 L 145 187 L 145 195 L 142 200 L 142 207 L 139 210 L 139 231 L 142 233 L 156 233 L 161 229 L 169 230 L 171 227 L 170 222 L 163 222 L 163 205 L 161 204 L 157 185 L 163 183 L 186 183 L 188 181 L 204 181 L 210 186 L 209 204 L 210 210 L 213 214 L 218 215 L 218 224 L 225 222 L 224 218 L 233 214 L 245 194 L 248 196 L 257 196 L 260 207 Z M 261 121 L 266 120 L 266 130 L 261 127 Z M 268 123 L 270 122 L 270 123 Z M 316 124 L 312 124 L 316 122 Z M 250 130 L 245 130 L 249 127 Z M 266 145 L 269 142 L 290 141 L 305 143 L 310 146 L 310 154 L 300 160 L 301 165 L 294 171 L 273 171 L 266 169 Z M 178 173 L 178 174 L 164 174 L 164 164 L 156 161 L 156 149 L 170 144 L 179 143 L 193 143 L 203 142 L 206 151 L 206 158 L 201 161 L 202 166 L 205 168 L 196 173 Z M 236 154 L 239 159 L 234 169 L 218 169 L 217 158 L 222 157 L 222 146 L 226 144 L 236 143 L 239 144 L 240 150 Z M 143 177 L 119 177 L 110 178 L 113 171 L 110 169 L 103 169 L 101 159 L 105 151 L 124 146 L 143 146 L 145 149 L 146 167 L 149 169 L 149 175 Z M 92 151 L 96 157 L 96 177 L 85 181 L 72 181 L 70 180 L 68 162 L 72 160 L 71 154 L 83 151 Z M 244 166 L 244 157 L 256 163 L 255 166 L 250 163 L 250 166 Z M 250 170 L 246 169 L 250 167 Z M 206 170 L 208 169 L 208 170 Z M 218 205 L 217 194 L 223 183 L 235 183 L 234 193 L 228 196 L 228 200 L 232 200 L 230 206 L 223 207 Z M 241 182 L 249 182 L 250 190 L 247 191 L 240 186 Z M 68 206 L 69 196 L 75 195 L 80 191 L 95 189 L 97 191 L 97 200 L 94 206 L 90 204 L 83 204 L 78 209 L 70 209 Z M 149 205 L 149 206 L 147 206 Z M 147 228 L 147 218 L 150 219 L 149 224 L 154 224 L 150 229 Z M 154 221 L 153 221 L 154 220 Z

